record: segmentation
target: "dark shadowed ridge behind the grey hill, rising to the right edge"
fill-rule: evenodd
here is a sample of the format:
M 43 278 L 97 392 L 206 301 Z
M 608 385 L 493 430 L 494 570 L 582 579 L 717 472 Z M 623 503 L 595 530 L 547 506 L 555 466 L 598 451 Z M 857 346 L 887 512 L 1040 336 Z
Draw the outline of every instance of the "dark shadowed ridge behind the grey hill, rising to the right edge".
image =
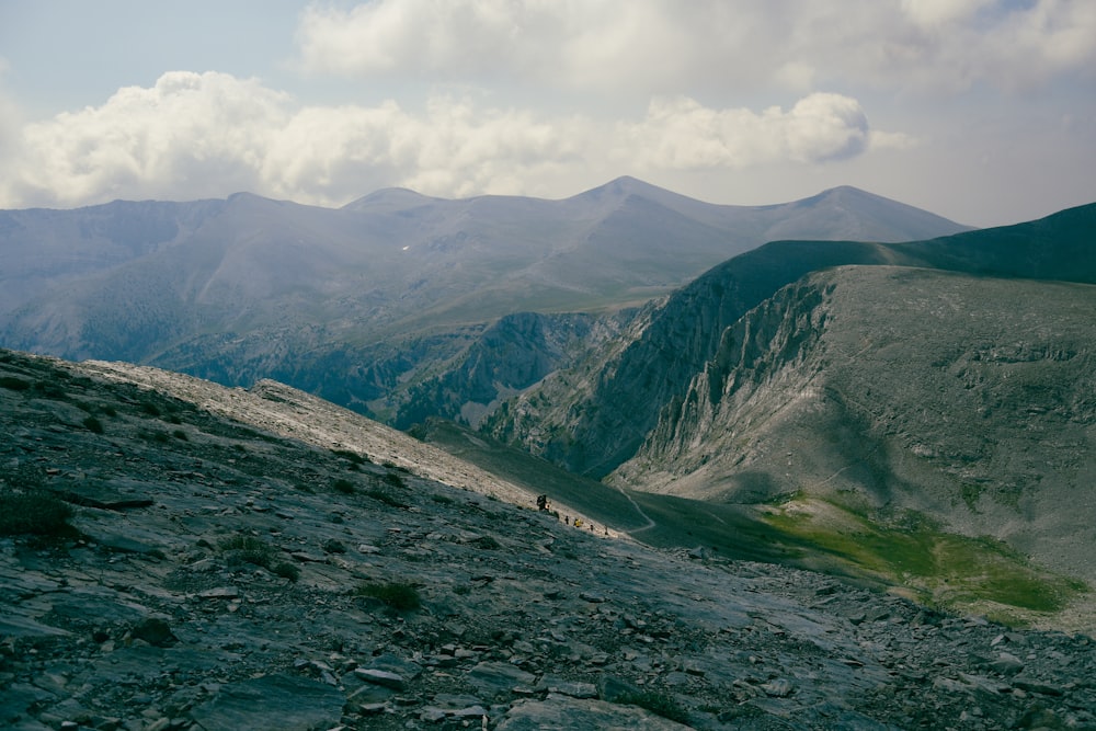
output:
M 649 323 L 633 340 L 504 404 L 489 426 L 504 441 L 602 477 L 633 454 L 666 404 L 685 397 L 723 331 L 801 276 L 847 264 L 900 264 L 1093 283 L 1094 218 L 1096 205 L 1089 205 L 922 242 L 770 242 L 697 277 L 644 315 Z

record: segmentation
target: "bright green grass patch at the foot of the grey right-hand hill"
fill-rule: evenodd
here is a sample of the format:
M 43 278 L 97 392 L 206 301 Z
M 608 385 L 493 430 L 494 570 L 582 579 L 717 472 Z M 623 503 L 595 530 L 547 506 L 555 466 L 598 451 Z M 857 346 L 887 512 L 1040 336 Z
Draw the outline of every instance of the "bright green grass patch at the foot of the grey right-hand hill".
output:
M 871 519 L 818 498 L 794 496 L 763 518 L 789 539 L 815 547 L 811 568 L 907 590 L 923 604 L 961 614 L 993 614 L 1021 625 L 1035 614 L 1061 612 L 1082 582 L 1038 567 L 992 537 L 944 533 L 906 511 Z

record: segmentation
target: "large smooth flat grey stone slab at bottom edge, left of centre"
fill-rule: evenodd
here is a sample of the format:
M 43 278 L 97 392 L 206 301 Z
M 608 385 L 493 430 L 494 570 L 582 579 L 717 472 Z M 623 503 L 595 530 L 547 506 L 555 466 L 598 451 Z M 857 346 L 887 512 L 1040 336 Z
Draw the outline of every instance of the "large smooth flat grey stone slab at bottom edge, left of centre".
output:
M 222 686 L 191 717 L 204 731 L 311 731 L 339 726 L 344 701 L 342 693 L 323 683 L 265 675 Z

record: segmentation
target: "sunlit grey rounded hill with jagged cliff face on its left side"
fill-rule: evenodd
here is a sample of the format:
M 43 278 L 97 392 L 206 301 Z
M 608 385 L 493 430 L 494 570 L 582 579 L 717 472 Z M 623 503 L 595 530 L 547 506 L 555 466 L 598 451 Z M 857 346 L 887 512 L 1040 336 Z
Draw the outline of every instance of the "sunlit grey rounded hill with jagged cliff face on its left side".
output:
M 1096 576 L 1096 287 L 817 273 L 728 329 L 614 479 L 916 510 Z

